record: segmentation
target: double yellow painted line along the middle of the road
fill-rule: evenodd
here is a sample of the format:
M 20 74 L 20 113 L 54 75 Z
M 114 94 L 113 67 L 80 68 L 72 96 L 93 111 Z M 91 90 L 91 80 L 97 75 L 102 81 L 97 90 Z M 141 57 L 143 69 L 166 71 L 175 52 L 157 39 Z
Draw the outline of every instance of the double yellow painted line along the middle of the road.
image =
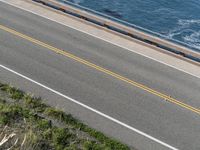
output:
M 132 86 L 135 86 L 135 87 L 137 87 L 137 88 L 140 88 L 140 89 L 142 89 L 142 90 L 144 90 L 144 91 L 147 91 L 147 92 L 149 92 L 149 93 L 151 93 L 151 94 L 153 94 L 153 95 L 156 95 L 156 96 L 158 96 L 158 97 L 160 97 L 160 98 L 163 98 L 164 100 L 167 100 L 167 101 L 169 101 L 169 102 L 171 102 L 171 103 L 173 103 L 173 104 L 176 104 L 176 105 L 178 105 L 178 106 L 181 106 L 181 107 L 183 107 L 183 108 L 185 108 L 185 109 L 187 109 L 187 110 L 190 110 L 190 111 L 195 112 L 195 113 L 197 113 L 197 114 L 200 115 L 200 109 L 195 108 L 195 107 L 193 107 L 193 106 L 190 106 L 190 105 L 188 105 L 188 104 L 186 104 L 186 103 L 183 103 L 183 102 L 181 102 L 181 101 L 179 101 L 179 100 L 176 100 L 175 98 L 172 98 L 172 97 L 170 97 L 169 95 L 166 95 L 166 94 L 163 94 L 163 93 L 158 92 L 158 91 L 156 91 L 156 90 L 153 90 L 153 89 L 151 89 L 151 88 L 149 88 L 149 87 L 147 87 L 147 86 L 145 86 L 145 85 L 143 85 L 143 84 L 140 84 L 140 83 L 138 83 L 138 82 L 136 82 L 136 81 L 130 80 L 130 79 L 128 79 L 128 78 L 126 78 L 126 77 L 123 77 L 123 76 L 121 76 L 121 75 L 119 75 L 119 74 L 117 74 L 117 73 L 114 73 L 114 72 L 112 72 L 112 71 L 110 71 L 110 70 L 107 70 L 107 69 L 105 69 L 105 68 L 102 68 L 102 67 L 100 67 L 100 66 L 98 66 L 98 65 L 95 65 L 95 64 L 93 64 L 93 63 L 91 63 L 91 62 L 89 62 L 89 61 L 87 61 L 87 60 L 84 60 L 84 59 L 82 59 L 82 58 L 80 58 L 80 57 L 77 57 L 77 56 L 75 56 L 75 55 L 73 55 L 73 54 L 71 54 L 71 53 L 68 53 L 68 52 L 66 52 L 66 51 L 64 51 L 64 50 L 58 49 L 58 48 L 56 48 L 56 47 L 53 47 L 53 46 L 51 46 L 51 45 L 49 45 L 49 44 L 46 44 L 46 43 L 44 43 L 44 42 L 41 42 L 41 41 L 39 41 L 39 40 L 37 40 L 37 39 L 34 39 L 34 38 L 30 37 L 30 36 L 27 36 L 27 35 L 25 35 L 25 34 L 19 33 L 19 32 L 15 31 L 15 30 L 10 29 L 10 28 L 8 28 L 8 27 L 5 27 L 5 26 L 3 26 L 3 25 L 0 25 L 0 29 L 1 29 L 1 30 L 4 30 L 4 31 L 6 31 L 6 32 L 9 32 L 9 33 L 11 33 L 11 34 L 13 34 L 13 35 L 15 35 L 15 36 L 18 36 L 18 37 L 20 37 L 20 38 L 23 38 L 23 39 L 25 39 L 25 40 L 28 40 L 28 41 L 30 41 L 30 42 L 36 44 L 36 45 L 40 45 L 40 46 L 42 46 L 42 47 L 45 47 L 45 48 L 47 48 L 47 49 L 49 49 L 49 50 L 51 50 L 51 51 L 54 51 L 54 52 L 56 52 L 56 53 L 58 53 L 58 54 L 64 55 L 64 56 L 66 56 L 66 57 L 68 57 L 68 58 L 71 58 L 71 59 L 73 59 L 73 60 L 75 60 L 75 61 L 77 61 L 77 62 L 79 62 L 79 63 L 81 63 L 81 64 L 87 65 L 87 66 L 89 66 L 89 67 L 91 67 L 91 68 L 93 68 L 93 69 L 96 69 L 96 70 L 98 70 L 98 71 L 100 71 L 100 72 L 103 72 L 103 73 L 105 73 L 105 74 L 107 74 L 107 75 L 110 75 L 110 76 L 112 76 L 112 77 L 114 77 L 114 78 L 116 78 L 116 79 L 119 79 L 119 80 L 121 80 L 121 81 L 124 81 L 124 82 L 126 82 L 126 83 L 128 83 L 128 84 L 131 84 Z

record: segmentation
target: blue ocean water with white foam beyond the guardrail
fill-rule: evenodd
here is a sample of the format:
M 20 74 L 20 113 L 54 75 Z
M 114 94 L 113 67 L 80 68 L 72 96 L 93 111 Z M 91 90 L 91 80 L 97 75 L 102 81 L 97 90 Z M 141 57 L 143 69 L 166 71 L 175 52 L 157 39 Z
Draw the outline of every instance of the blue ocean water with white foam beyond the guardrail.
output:
M 200 52 L 200 0 L 69 1 L 150 30 Z

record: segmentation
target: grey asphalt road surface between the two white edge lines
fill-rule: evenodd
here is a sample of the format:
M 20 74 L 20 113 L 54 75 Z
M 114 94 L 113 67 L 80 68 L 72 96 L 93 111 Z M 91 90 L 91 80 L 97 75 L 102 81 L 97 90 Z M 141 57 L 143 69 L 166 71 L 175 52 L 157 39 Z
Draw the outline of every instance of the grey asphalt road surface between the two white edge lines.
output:
M 55 53 L 51 47 L 33 43 L 2 28 L 0 64 L 173 147 L 200 149 L 200 113 L 166 101 L 160 94 L 132 83 L 145 85 L 199 111 L 199 78 L 1 2 L 0 25 L 95 66 Z M 6 74 L 4 71 L 0 69 L 0 76 Z M 111 135 L 112 130 L 106 132 Z M 130 144 L 128 140 L 127 144 Z

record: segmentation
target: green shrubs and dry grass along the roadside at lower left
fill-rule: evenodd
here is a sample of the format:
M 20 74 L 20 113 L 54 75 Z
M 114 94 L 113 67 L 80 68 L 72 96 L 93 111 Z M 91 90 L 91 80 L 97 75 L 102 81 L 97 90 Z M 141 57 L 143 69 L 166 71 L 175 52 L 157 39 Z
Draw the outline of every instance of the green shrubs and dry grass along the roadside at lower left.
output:
M 70 114 L 0 83 L 0 150 L 129 150 Z

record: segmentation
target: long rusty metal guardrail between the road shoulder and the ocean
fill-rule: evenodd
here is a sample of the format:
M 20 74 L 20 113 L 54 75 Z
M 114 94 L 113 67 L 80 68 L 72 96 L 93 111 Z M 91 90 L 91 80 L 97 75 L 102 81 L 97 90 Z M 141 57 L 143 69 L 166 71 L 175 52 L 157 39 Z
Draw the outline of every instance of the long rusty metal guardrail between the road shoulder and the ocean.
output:
M 132 38 L 148 43 L 150 45 L 154 45 L 158 48 L 173 52 L 175 54 L 181 55 L 182 57 L 194 60 L 196 62 L 200 62 L 200 53 L 193 51 L 187 47 L 184 47 L 182 45 L 161 39 L 158 37 L 157 33 L 143 29 L 141 27 L 134 26 L 132 24 L 124 25 L 124 23 L 126 22 L 120 21 L 118 19 L 112 18 L 110 16 L 101 13 L 97 13 L 93 10 L 75 5 L 73 3 L 68 3 L 68 5 L 65 5 L 55 0 L 32 0 L 32 1 L 52 7 L 54 9 L 73 15 L 75 17 L 87 20 L 96 25 L 106 27 L 110 30 L 130 36 Z

